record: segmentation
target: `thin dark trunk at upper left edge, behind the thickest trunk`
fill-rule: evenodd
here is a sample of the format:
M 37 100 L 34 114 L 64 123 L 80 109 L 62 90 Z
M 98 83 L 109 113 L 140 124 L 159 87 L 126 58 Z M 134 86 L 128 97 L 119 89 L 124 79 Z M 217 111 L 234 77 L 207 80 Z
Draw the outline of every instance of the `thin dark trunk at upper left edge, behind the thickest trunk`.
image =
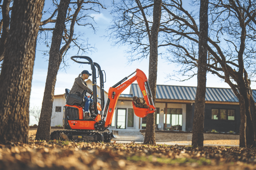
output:
M 3 60 L 5 54 L 5 44 L 9 34 L 9 25 L 10 25 L 10 17 L 9 17 L 9 7 L 11 0 L 4 0 L 2 5 L 2 15 L 3 15 L 3 26 L 2 26 L 2 35 L 0 41 L 0 61 Z

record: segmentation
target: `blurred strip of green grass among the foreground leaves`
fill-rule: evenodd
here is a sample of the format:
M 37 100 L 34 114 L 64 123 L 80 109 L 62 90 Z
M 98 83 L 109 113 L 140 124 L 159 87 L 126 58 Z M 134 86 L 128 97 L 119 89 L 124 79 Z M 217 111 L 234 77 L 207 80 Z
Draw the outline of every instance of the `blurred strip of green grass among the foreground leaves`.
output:
M 199 160 L 197 159 L 192 159 L 192 158 L 176 158 L 176 159 L 171 159 L 171 158 L 156 158 L 152 155 L 145 157 L 145 156 L 132 156 L 132 157 L 127 157 L 128 161 L 144 161 L 144 162 L 159 162 L 159 163 L 164 163 L 164 164 L 184 164 L 184 163 L 198 163 L 198 165 L 202 165 L 204 163 L 206 164 L 211 164 L 210 159 L 206 158 L 200 158 Z

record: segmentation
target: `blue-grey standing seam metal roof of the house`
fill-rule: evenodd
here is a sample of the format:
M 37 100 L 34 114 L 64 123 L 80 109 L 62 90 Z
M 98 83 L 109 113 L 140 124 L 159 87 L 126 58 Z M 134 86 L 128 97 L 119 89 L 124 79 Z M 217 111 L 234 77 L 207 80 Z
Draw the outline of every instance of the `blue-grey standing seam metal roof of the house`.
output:
M 120 97 L 138 96 L 142 98 L 142 92 L 138 84 L 131 84 L 130 94 L 121 94 Z M 196 87 L 156 85 L 156 99 L 170 100 L 195 100 Z M 253 90 L 253 98 L 256 102 L 256 90 Z M 231 89 L 206 87 L 205 101 L 239 102 Z

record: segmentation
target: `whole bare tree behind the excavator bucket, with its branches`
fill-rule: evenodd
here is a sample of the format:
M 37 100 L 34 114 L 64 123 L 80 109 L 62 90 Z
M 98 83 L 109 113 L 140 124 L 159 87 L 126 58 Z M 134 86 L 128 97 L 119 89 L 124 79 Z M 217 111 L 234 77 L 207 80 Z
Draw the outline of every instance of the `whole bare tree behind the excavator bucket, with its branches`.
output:
M 136 2 L 136 3 L 135 3 Z M 149 55 L 149 86 L 156 99 L 156 79 L 158 64 L 158 31 L 161 20 L 161 0 L 136 1 L 123 0 L 114 3 L 113 25 L 109 36 L 115 44 L 128 44 L 130 47 L 129 61 L 141 60 Z M 149 11 L 150 8 L 152 11 Z M 146 9 L 146 11 L 144 11 Z M 144 30 L 141 32 L 140 30 Z M 145 43 L 144 43 L 145 42 Z M 148 49 L 147 54 L 144 48 Z M 155 113 L 147 115 L 144 144 L 155 142 Z

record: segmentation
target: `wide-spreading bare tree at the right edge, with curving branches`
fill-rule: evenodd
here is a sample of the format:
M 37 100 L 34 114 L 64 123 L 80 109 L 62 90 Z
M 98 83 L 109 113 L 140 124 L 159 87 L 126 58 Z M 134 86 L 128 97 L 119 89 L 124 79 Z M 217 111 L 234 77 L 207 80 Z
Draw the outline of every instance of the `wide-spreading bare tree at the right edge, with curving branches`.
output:
M 239 7 L 241 1 L 209 1 L 209 33 L 207 71 L 222 78 L 233 90 L 240 106 L 240 147 L 254 144 L 255 125 L 250 113 L 252 93 L 250 77 L 255 68 L 255 37 L 253 21 Z M 242 6 L 246 9 L 249 4 Z M 163 35 L 161 46 L 168 46 L 167 60 L 180 63 L 179 72 L 189 78 L 195 76 L 198 67 L 198 23 L 194 12 L 188 12 L 181 0 L 170 0 L 163 4 L 166 22 L 160 26 Z M 253 11 L 253 9 L 251 9 Z M 248 71 L 248 72 L 247 72 Z M 253 113 L 255 114 L 255 113 Z

